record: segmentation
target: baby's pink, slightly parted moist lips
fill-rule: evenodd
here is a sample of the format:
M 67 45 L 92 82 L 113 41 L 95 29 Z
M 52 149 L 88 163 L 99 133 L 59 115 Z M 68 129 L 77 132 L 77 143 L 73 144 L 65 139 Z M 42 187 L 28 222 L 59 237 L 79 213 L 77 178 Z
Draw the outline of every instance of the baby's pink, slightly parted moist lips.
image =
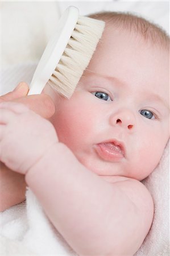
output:
M 94 148 L 100 158 L 109 162 L 120 162 L 125 158 L 125 146 L 117 139 L 98 143 Z

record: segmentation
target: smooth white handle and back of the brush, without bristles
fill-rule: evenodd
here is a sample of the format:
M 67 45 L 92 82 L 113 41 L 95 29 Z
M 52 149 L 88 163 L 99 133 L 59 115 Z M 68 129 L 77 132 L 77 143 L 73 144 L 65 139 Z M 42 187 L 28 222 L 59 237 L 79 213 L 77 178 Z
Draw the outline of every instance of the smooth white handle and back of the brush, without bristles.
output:
M 57 23 L 57 30 L 49 40 L 36 67 L 28 95 L 40 94 L 44 89 L 71 38 L 78 15 L 78 9 L 74 6 L 69 6 L 61 16 L 59 23 Z

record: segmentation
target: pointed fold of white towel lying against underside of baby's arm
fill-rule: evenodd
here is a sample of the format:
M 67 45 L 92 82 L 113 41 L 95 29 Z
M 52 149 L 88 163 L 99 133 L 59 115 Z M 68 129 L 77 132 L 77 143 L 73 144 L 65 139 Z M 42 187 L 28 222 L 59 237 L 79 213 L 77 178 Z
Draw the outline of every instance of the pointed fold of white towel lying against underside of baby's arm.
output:
M 23 244 L 40 255 L 76 255 L 53 228 L 30 189 L 27 190 L 26 201 L 29 229 L 24 235 Z

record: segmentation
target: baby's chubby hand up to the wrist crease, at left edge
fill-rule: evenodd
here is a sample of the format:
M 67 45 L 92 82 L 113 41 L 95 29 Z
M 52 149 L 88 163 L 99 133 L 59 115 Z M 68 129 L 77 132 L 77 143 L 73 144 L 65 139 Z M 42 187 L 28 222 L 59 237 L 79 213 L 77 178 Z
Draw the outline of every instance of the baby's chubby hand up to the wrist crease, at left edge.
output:
M 0 109 L 0 161 L 26 174 L 58 142 L 55 128 L 23 104 L 1 102 Z

